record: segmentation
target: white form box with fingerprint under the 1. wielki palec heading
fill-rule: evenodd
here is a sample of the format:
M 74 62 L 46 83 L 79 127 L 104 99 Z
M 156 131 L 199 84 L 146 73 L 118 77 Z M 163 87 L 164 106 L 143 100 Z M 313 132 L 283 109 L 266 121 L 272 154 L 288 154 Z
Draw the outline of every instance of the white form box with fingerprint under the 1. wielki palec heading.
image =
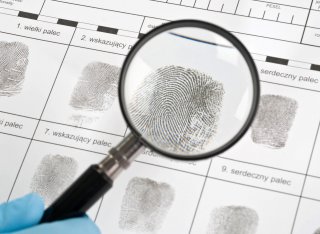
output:
M 1 33 L 0 111 L 39 118 L 67 47 Z

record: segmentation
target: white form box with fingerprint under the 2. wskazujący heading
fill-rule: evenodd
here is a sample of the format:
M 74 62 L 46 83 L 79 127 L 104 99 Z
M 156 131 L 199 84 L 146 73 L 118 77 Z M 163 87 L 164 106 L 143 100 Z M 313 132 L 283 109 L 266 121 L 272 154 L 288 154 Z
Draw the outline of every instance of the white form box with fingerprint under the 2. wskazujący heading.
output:
M 124 56 L 71 47 L 43 119 L 123 136 L 126 124 L 118 101 Z

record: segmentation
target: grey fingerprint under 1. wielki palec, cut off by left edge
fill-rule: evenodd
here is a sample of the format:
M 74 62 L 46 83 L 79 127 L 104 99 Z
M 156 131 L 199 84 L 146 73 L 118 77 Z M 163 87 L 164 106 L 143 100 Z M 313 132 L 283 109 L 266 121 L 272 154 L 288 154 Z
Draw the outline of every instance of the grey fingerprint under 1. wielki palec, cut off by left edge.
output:
M 0 41 L 0 96 L 10 97 L 21 92 L 28 57 L 25 44 Z

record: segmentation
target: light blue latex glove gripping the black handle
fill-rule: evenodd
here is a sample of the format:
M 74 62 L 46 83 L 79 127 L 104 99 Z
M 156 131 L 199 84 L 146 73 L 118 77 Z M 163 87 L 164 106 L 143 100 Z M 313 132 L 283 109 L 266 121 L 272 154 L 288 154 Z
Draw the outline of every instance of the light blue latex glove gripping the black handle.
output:
M 44 204 L 36 194 L 0 205 L 0 234 L 99 234 L 87 217 L 39 224 Z

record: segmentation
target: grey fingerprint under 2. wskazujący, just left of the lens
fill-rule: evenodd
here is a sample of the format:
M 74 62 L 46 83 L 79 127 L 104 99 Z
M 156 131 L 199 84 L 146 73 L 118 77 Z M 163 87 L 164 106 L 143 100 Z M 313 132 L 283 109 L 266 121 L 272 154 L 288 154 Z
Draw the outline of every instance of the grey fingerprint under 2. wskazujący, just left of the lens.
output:
M 73 89 L 70 105 L 79 110 L 108 110 L 117 97 L 119 72 L 118 67 L 107 63 L 88 64 Z

